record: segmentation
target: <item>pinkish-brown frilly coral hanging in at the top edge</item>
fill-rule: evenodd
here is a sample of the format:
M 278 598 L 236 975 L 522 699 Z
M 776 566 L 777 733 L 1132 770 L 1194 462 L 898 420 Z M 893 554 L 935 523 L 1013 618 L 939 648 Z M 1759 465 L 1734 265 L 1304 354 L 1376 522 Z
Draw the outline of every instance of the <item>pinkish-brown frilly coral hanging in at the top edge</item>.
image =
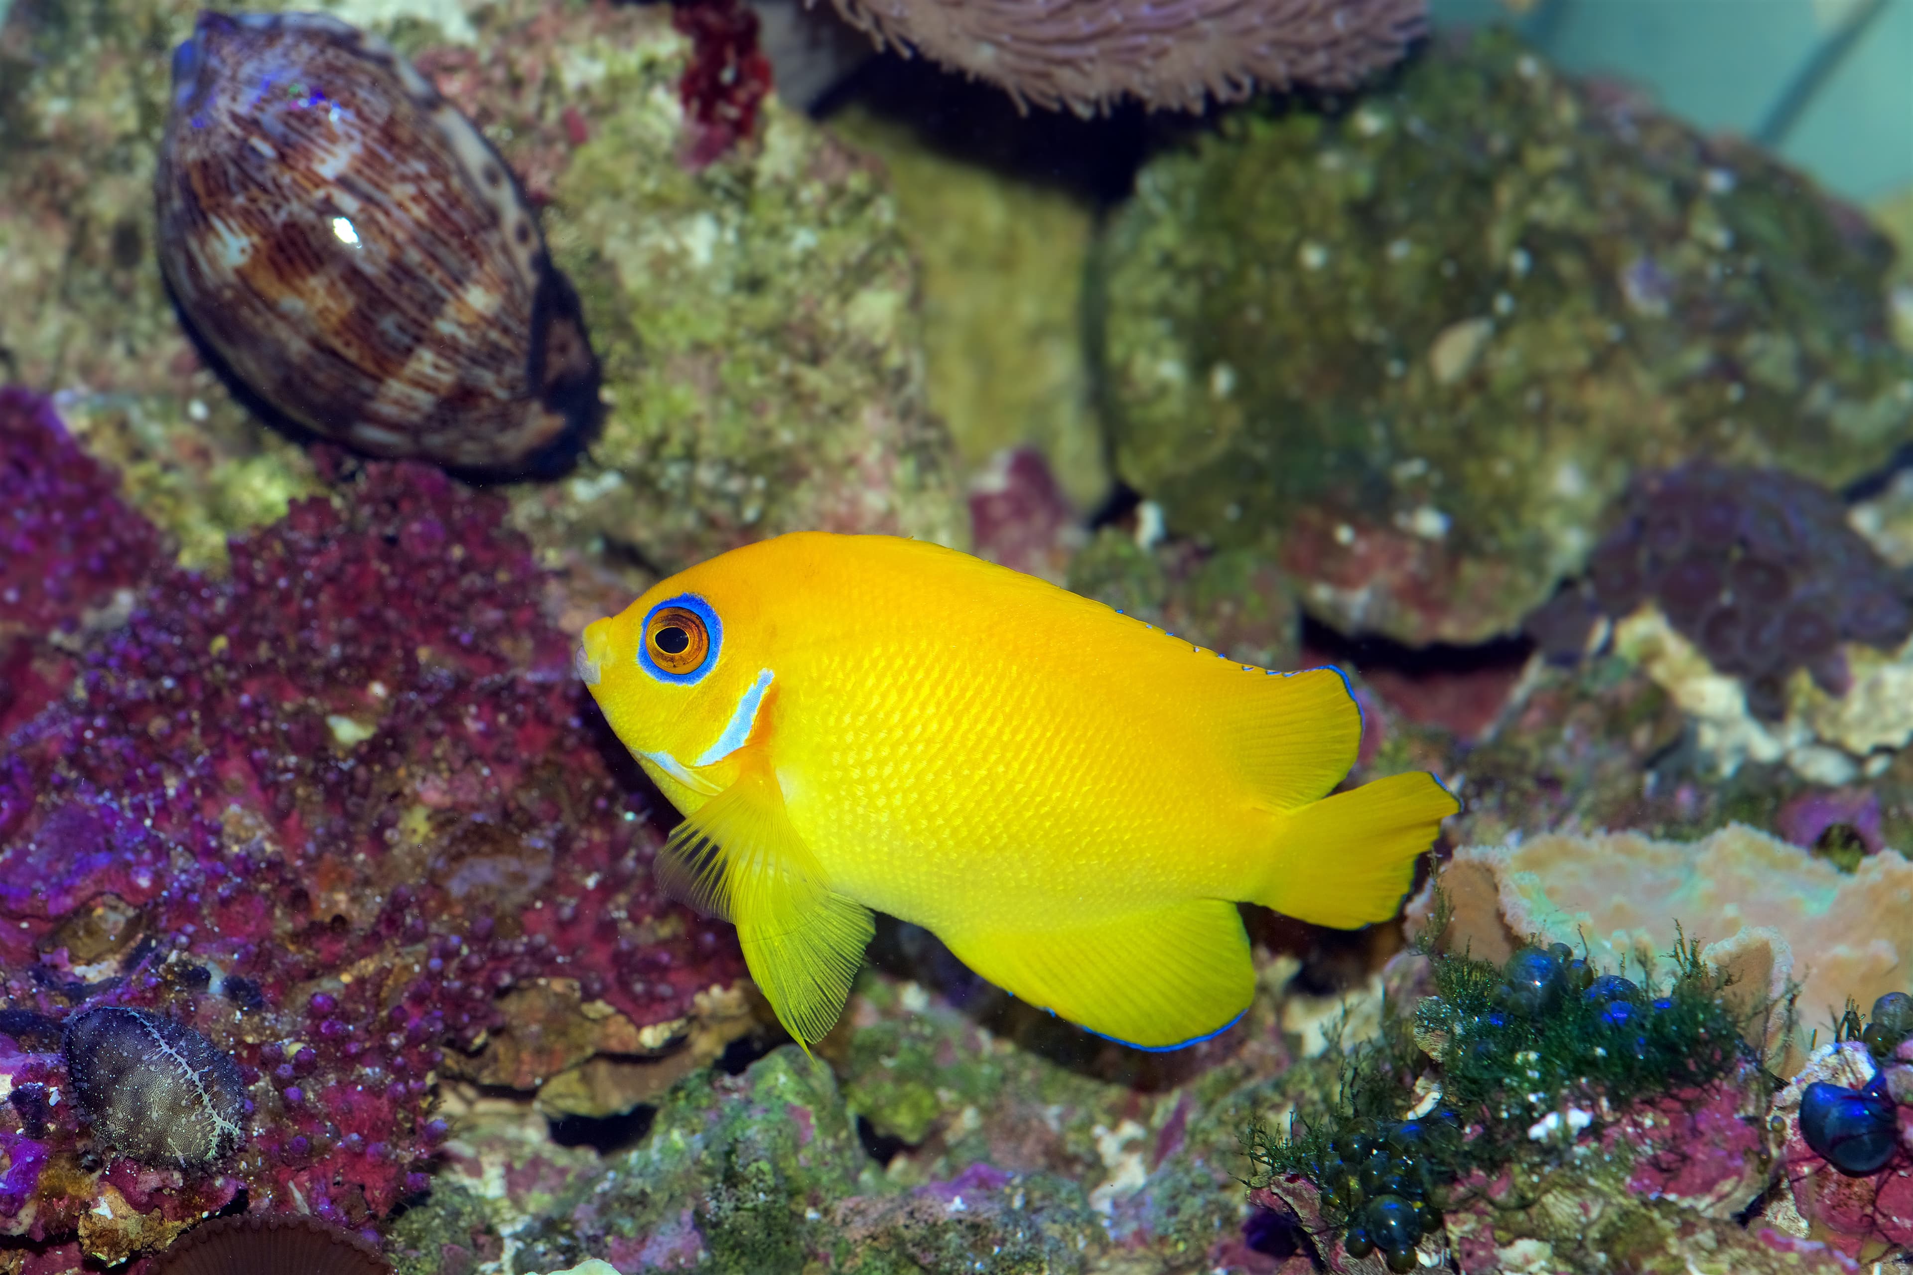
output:
M 1396 61 L 1425 0 L 836 0 L 853 25 L 1018 100 L 1092 115 L 1123 96 L 1199 111 L 1257 88 L 1352 88 Z

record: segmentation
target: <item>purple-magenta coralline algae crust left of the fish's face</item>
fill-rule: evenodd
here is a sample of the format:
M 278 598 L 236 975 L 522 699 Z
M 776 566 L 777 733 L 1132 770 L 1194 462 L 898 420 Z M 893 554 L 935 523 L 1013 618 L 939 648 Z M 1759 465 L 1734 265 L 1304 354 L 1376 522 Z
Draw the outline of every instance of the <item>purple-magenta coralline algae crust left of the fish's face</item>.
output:
M 740 976 L 723 927 L 654 894 L 647 798 L 501 500 L 325 454 L 331 496 L 210 578 L 159 561 L 44 404 L 0 408 L 4 481 L 38 511 L 10 515 L 4 588 L 63 580 L 10 615 L 71 624 L 136 590 L 67 643 L 73 689 L 11 727 L 0 770 L 0 1233 L 52 1244 L 46 1269 L 163 1246 L 241 1189 L 365 1227 L 429 1183 L 438 1078 L 536 1087 L 582 1061 L 515 995 L 639 1053 Z M 84 1124 L 59 1055 L 57 1024 L 103 1005 L 230 1059 L 245 1145 L 187 1170 L 115 1156 L 140 1130 Z

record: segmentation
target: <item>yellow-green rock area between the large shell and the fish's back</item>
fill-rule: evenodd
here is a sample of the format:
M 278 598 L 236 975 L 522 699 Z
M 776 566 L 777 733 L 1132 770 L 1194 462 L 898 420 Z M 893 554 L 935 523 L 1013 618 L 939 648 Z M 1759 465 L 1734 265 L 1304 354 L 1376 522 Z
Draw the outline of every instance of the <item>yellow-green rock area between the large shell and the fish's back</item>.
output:
M 562 54 L 591 136 L 545 230 L 608 414 L 574 477 L 517 492 L 520 525 L 654 570 L 798 528 L 962 544 L 882 170 L 775 101 L 758 138 L 689 167 L 683 40 L 662 19 L 633 31 L 576 33 Z

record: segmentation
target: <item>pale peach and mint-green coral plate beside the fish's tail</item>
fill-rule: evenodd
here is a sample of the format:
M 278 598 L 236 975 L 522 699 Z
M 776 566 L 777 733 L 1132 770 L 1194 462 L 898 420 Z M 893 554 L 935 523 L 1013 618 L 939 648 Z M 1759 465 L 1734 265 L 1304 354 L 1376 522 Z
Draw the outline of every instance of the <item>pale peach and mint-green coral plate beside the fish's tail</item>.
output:
M 1913 863 L 1894 850 L 1865 856 L 1852 873 L 1800 846 L 1739 823 L 1697 842 L 1636 833 L 1542 833 L 1500 846 L 1465 846 L 1440 873 L 1454 906 L 1444 944 L 1494 957 L 1538 936 L 1595 963 L 1660 961 L 1676 923 L 1703 957 L 1731 973 L 1748 1015 L 1800 980 L 1796 1041 L 1825 1030 L 1848 995 L 1903 990 L 1913 969 Z M 1412 917 L 1429 913 L 1423 892 Z M 1779 1030 L 1752 1018 L 1750 1030 Z

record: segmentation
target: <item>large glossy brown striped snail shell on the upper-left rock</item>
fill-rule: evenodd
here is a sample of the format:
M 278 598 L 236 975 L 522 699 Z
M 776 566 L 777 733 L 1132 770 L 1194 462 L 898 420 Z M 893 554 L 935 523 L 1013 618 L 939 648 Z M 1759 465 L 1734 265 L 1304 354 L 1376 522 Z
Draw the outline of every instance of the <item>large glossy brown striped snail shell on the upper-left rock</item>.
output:
M 298 425 L 473 469 L 589 429 L 597 362 L 524 191 L 381 40 L 201 13 L 172 54 L 155 195 L 182 314 Z

